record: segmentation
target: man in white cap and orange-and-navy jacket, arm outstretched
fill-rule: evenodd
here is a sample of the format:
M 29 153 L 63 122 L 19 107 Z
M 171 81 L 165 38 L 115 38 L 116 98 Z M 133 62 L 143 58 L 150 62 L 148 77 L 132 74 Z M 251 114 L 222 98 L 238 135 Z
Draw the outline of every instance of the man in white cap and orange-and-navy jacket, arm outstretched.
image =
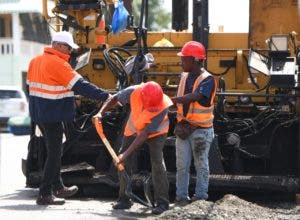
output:
M 29 111 L 45 139 L 47 159 L 36 200 L 38 205 L 62 205 L 64 198 L 74 195 L 78 187 L 64 186 L 61 175 L 62 122 L 72 122 L 75 116 L 74 92 L 91 99 L 105 101 L 109 93 L 85 81 L 72 69 L 68 60 L 77 49 L 69 32 L 54 34 L 52 46 L 33 58 L 29 64 Z

